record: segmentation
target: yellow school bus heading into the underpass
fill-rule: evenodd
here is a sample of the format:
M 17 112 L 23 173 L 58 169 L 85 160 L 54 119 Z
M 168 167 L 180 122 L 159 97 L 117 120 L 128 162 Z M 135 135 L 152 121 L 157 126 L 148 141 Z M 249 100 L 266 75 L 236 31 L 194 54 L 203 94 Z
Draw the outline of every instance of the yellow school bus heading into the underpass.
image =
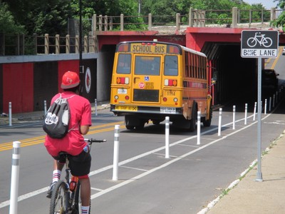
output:
M 207 57 L 178 44 L 125 41 L 116 46 L 110 111 L 125 116 L 127 129 L 158 125 L 170 117 L 172 126 L 195 131 L 197 112 L 210 126 Z

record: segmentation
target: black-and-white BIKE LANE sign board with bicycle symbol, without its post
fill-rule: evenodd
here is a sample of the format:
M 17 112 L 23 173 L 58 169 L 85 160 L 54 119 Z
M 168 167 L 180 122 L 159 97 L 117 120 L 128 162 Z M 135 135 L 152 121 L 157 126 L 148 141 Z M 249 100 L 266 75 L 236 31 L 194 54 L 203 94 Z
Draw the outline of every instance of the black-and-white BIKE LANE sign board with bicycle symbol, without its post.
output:
M 276 58 L 278 56 L 278 31 L 242 31 L 241 56 L 244 58 Z

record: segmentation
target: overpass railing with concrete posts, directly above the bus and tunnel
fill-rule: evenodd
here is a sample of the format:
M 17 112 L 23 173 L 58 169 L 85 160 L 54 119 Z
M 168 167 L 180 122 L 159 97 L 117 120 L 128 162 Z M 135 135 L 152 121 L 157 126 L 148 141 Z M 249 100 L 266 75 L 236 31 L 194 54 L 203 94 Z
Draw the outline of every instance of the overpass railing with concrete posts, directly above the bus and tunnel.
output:
M 270 22 L 276 19 L 277 9 L 270 10 L 197 10 L 190 8 L 189 14 L 175 14 L 172 16 L 93 16 L 93 30 L 95 31 L 151 31 L 154 26 L 175 26 L 180 30 L 182 25 L 207 27 L 212 24 L 224 27 L 237 27 L 237 24 Z

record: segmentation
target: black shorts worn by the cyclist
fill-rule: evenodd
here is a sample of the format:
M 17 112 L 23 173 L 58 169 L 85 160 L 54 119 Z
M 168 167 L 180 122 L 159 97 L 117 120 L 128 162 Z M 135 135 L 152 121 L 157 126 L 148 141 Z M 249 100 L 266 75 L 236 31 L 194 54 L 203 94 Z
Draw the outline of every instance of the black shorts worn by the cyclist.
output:
M 60 163 L 64 163 L 65 160 L 61 160 L 59 157 L 53 157 Z M 90 153 L 82 151 L 78 156 L 68 156 L 69 168 L 71 174 L 74 176 L 83 176 L 90 173 L 91 156 Z

